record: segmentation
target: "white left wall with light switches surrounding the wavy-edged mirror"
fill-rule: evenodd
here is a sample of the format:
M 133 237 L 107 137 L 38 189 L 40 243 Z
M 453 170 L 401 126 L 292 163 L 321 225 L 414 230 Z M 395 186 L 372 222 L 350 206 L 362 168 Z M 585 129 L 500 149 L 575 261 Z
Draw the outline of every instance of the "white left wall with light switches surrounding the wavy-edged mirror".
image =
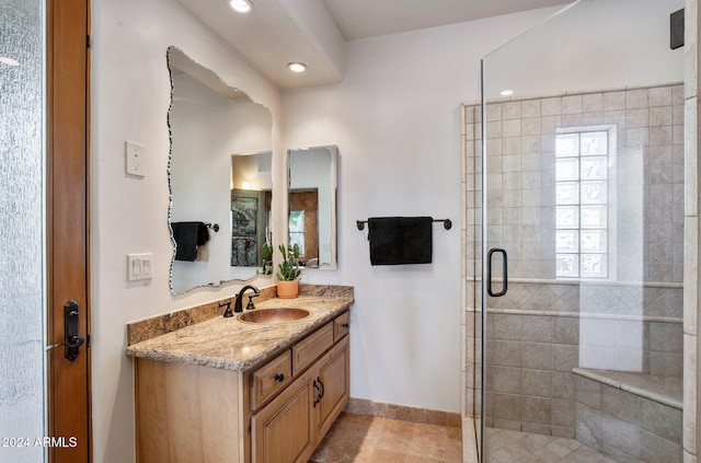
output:
M 226 285 L 180 297 L 170 292 L 168 47 L 179 47 L 271 111 L 273 175 L 278 182 L 284 178 L 285 157 L 279 92 L 174 1 L 93 0 L 92 30 L 93 454 L 96 462 L 123 463 L 134 459 L 133 374 L 131 360 L 124 355 L 125 324 L 231 297 L 239 289 Z M 142 180 L 124 173 L 125 140 L 146 146 Z M 127 283 L 126 254 L 142 252 L 153 253 L 153 279 Z

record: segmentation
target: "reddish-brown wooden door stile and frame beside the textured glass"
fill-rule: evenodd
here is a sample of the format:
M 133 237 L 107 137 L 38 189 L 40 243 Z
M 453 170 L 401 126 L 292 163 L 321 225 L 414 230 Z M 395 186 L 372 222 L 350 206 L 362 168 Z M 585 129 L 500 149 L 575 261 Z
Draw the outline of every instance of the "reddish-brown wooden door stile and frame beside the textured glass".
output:
M 48 350 L 49 462 L 91 461 L 88 254 L 89 0 L 47 0 L 47 338 L 65 342 L 74 301 L 84 339 L 73 360 Z

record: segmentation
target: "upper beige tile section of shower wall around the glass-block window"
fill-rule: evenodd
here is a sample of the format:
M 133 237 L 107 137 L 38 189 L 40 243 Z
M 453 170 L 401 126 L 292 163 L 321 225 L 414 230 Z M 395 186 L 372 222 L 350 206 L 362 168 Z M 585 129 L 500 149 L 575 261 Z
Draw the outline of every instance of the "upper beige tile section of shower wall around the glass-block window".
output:
M 617 240 L 610 243 L 617 246 L 617 279 L 682 281 L 682 85 L 493 103 L 486 118 L 489 238 L 520 250 L 509 256 L 512 275 L 555 277 L 556 129 L 610 126 L 617 140 Z M 472 155 L 481 126 L 480 107 L 467 107 Z M 468 194 L 479 193 L 470 189 L 478 183 L 468 185 Z

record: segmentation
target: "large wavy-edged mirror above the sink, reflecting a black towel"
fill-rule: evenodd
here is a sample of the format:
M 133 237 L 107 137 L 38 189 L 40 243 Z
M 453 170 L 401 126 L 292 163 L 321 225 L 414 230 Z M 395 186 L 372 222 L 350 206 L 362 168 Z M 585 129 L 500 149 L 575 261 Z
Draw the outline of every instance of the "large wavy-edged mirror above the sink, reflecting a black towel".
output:
M 179 294 L 202 286 L 246 280 L 261 273 L 262 261 L 251 266 L 256 257 L 251 254 L 260 254 L 267 223 L 244 225 L 234 220 L 233 208 L 249 215 L 252 201 L 234 201 L 232 167 L 238 164 L 238 153 L 267 152 L 272 159 L 273 117 L 265 106 L 229 86 L 177 48 L 168 49 L 168 66 L 172 85 L 168 115 L 169 227 L 174 245 L 171 291 Z M 272 178 L 267 182 L 272 186 Z M 269 209 L 263 202 L 255 210 Z M 242 231 L 250 234 L 252 230 L 263 230 L 260 238 L 256 234 L 258 247 L 252 251 L 249 242 L 244 250 L 249 256 L 234 259 L 241 254 L 232 245 L 243 242 Z

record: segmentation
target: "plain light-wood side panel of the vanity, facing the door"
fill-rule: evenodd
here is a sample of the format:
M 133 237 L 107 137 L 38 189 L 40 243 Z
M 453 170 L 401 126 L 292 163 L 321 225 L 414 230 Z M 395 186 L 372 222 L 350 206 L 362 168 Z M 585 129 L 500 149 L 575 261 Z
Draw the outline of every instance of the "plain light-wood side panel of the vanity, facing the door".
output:
M 239 373 L 139 358 L 135 393 L 137 462 L 242 461 Z

